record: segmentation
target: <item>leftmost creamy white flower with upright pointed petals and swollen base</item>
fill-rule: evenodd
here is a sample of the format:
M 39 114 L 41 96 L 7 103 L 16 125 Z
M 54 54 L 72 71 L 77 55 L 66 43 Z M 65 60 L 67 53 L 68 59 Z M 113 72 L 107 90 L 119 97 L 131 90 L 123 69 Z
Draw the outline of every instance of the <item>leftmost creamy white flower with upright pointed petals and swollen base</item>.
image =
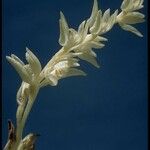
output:
M 25 104 L 28 96 L 32 96 L 34 88 L 39 86 L 39 74 L 41 72 L 41 64 L 38 58 L 26 48 L 26 60 L 28 64 L 24 64 L 16 55 L 6 56 L 8 62 L 15 68 L 22 79 L 22 84 L 17 92 L 18 104 Z

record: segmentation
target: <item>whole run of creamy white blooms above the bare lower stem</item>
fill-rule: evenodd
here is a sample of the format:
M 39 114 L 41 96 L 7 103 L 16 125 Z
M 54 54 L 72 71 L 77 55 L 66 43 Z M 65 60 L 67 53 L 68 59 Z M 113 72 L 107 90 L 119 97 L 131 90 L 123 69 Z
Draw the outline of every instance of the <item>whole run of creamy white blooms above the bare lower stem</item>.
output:
M 107 9 L 102 14 L 102 11 L 98 9 L 97 0 L 94 0 L 90 18 L 84 20 L 77 31 L 69 28 L 65 16 L 60 12 L 59 44 L 63 47 L 43 70 L 38 58 L 28 48 L 26 52 L 27 64 L 24 64 L 13 54 L 11 57 L 7 56 L 7 60 L 14 66 L 23 81 L 20 88 L 21 92 L 18 91 L 18 95 L 22 95 L 22 98 L 25 99 L 27 97 L 27 92 L 25 91 L 29 92 L 30 86 L 34 85 L 39 88 L 46 85 L 56 86 L 58 80 L 62 78 L 85 75 L 83 71 L 77 69 L 80 66 L 80 59 L 99 67 L 96 60 L 97 55 L 93 49 L 101 49 L 105 46 L 102 42 L 107 41 L 107 39 L 102 37 L 101 34 L 108 32 L 116 22 L 124 30 L 129 30 L 141 36 L 129 24 L 143 22 L 144 15 L 139 12 L 133 12 L 142 8 L 142 3 L 142 0 L 124 0 L 121 5 L 122 12 L 118 15 L 118 10 L 116 10 L 110 15 L 110 9 Z

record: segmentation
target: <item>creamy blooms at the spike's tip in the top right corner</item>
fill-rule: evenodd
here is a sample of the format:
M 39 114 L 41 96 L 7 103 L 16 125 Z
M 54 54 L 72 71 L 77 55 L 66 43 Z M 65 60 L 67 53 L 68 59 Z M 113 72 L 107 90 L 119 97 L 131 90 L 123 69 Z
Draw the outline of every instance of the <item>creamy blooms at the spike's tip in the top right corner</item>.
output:
M 122 12 L 117 16 L 117 22 L 122 29 L 130 31 L 140 37 L 143 35 L 131 24 L 144 22 L 144 14 L 137 12 L 143 8 L 143 0 L 124 0 L 121 5 Z

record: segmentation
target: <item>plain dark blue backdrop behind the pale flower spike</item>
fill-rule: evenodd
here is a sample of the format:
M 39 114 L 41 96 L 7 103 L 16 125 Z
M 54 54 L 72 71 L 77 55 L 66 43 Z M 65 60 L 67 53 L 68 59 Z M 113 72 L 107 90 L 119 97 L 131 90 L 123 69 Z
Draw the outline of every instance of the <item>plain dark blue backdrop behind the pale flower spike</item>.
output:
M 122 0 L 99 0 L 104 11 L 118 9 Z M 16 92 L 21 80 L 5 59 L 24 59 L 32 49 L 42 66 L 60 48 L 59 11 L 77 28 L 91 13 L 93 0 L 3 0 L 3 145 L 7 119 L 15 122 Z M 147 16 L 147 1 L 142 12 Z M 24 135 L 40 133 L 37 150 L 146 150 L 147 149 L 147 23 L 136 25 L 144 37 L 119 26 L 105 35 L 97 50 L 101 68 L 86 62 L 86 77 L 60 80 L 41 89 Z

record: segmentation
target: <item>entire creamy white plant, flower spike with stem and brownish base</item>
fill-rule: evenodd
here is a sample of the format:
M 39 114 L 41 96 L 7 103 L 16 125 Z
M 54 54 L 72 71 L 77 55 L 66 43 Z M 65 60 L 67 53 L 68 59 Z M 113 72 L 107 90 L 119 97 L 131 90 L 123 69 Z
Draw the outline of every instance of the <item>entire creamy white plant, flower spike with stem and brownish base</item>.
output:
M 142 34 L 131 24 L 144 21 L 144 15 L 137 12 L 143 7 L 143 0 L 124 0 L 121 5 L 121 13 L 118 10 L 110 13 L 107 9 L 104 13 L 98 9 L 97 0 L 94 0 L 91 16 L 84 20 L 77 30 L 70 28 L 65 16 L 60 12 L 59 44 L 62 48 L 50 59 L 47 65 L 42 68 L 39 59 L 26 48 L 26 61 L 24 63 L 16 55 L 6 56 L 8 62 L 15 68 L 22 83 L 17 92 L 17 127 L 15 141 L 8 140 L 6 149 L 34 149 L 36 140 L 35 134 L 29 134 L 22 139 L 22 132 L 26 119 L 32 105 L 36 99 L 39 89 L 47 85 L 56 86 L 62 78 L 70 76 L 85 76 L 86 73 L 79 69 L 80 60 L 87 61 L 99 68 L 96 60 L 95 49 L 105 46 L 103 42 L 107 39 L 103 34 L 112 29 L 115 24 L 119 24 L 122 29 L 130 31 L 140 37 Z M 11 126 L 11 132 L 13 126 Z

